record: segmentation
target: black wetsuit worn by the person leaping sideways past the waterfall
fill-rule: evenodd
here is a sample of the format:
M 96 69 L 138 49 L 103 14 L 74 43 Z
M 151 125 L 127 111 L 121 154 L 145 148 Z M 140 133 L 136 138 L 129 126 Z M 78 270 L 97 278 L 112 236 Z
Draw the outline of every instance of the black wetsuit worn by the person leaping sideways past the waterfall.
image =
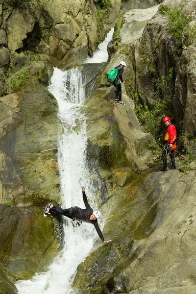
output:
M 59 213 L 59 214 L 65 216 L 67 218 L 72 219 L 72 220 L 76 218 L 76 220 L 78 220 L 78 221 L 84 221 L 84 222 L 92 223 L 96 228 L 98 236 L 101 238 L 101 241 L 103 242 L 104 238 L 103 238 L 101 230 L 100 230 L 100 228 L 98 226 L 98 220 L 95 220 L 95 221 L 90 220 L 90 216 L 93 213 L 93 209 L 89 205 L 86 194 L 85 194 L 84 191 L 82 191 L 82 196 L 83 196 L 83 201 L 84 201 L 86 209 L 82 209 L 82 208 L 77 207 L 77 206 L 67 208 L 67 209 L 63 209 L 61 207 L 53 205 L 53 207 L 49 209 L 49 212 Z

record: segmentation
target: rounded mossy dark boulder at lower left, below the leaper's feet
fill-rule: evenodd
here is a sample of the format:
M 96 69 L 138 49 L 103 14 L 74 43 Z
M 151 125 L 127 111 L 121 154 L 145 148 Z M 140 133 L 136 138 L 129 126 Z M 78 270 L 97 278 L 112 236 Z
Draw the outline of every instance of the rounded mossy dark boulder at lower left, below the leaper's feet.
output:
M 51 218 L 43 217 L 38 207 L 0 206 L 0 262 L 12 281 L 28 279 L 43 270 L 53 259 L 60 244 Z

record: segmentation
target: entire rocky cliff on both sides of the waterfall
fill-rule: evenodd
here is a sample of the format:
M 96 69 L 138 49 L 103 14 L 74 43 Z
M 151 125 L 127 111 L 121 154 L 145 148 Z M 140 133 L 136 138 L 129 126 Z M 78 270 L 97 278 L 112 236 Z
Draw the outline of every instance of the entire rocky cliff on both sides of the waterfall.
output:
M 17 293 L 13 282 L 42 271 L 62 248 L 61 219 L 43 220 L 48 201 L 61 203 L 58 107 L 46 89 L 52 66 L 80 66 L 116 24 L 110 62 L 83 67 L 82 110 L 88 166 L 95 187 L 101 183 L 97 203 L 108 215 L 103 234 L 113 241 L 95 244 L 73 287 L 81 294 L 194 294 L 196 1 L 113 0 L 101 8 L 101 22 L 98 2 L 0 0 L 0 291 Z M 184 22 L 177 29 L 175 15 Z M 121 60 L 125 106 L 113 102 L 106 83 Z M 156 112 L 156 139 L 162 115 L 172 117 L 183 153 L 178 170 L 158 172 L 160 150 L 138 106 L 146 124 Z

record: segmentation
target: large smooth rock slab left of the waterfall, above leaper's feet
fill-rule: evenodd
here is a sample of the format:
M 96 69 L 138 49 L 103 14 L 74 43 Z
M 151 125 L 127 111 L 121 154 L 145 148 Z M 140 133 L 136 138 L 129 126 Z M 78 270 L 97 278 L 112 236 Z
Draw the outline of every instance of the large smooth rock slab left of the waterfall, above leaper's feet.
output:
M 51 196 L 59 201 L 56 100 L 29 85 L 1 98 L 0 105 L 1 204 L 36 205 Z

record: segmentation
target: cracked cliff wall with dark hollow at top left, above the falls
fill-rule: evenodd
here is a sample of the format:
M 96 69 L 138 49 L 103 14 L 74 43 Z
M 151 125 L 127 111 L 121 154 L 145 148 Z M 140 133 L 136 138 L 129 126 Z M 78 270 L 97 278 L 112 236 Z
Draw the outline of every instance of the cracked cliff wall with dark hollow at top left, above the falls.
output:
M 5 9 L 2 16 L 5 27 L 0 30 L 0 42 L 8 45 L 10 51 L 28 49 L 48 54 L 61 60 L 72 48 L 73 52 L 84 49 L 88 44 L 95 50 L 97 39 L 96 8 L 93 1 L 43 0 L 42 4 L 26 2 L 20 9 Z M 3 30 L 4 29 L 4 30 Z M 66 34 L 65 34 L 66 32 Z

